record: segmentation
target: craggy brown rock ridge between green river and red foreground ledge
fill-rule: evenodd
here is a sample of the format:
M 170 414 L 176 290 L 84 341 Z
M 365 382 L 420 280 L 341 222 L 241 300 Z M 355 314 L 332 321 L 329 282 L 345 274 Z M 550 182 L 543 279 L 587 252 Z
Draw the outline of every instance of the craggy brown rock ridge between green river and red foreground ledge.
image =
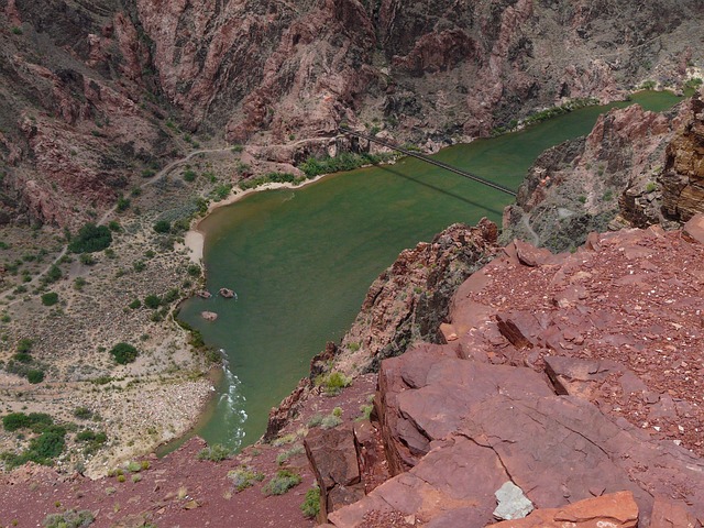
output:
M 402 354 L 415 340 L 444 342 L 438 328 L 451 296 L 497 251 L 497 228 L 483 219 L 476 228 L 453 224 L 430 243 L 405 250 L 370 287 L 360 315 L 338 354 L 343 370 L 377 370 L 384 358 Z M 354 365 L 354 367 L 352 366 Z

